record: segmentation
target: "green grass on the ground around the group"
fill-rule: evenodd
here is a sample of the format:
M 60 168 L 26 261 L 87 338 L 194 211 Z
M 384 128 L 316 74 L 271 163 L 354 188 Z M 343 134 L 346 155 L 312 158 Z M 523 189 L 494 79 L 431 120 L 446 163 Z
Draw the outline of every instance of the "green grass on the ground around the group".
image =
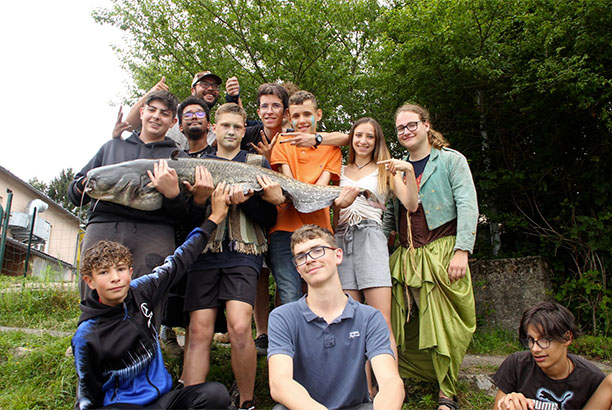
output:
M 0 276 L 0 326 L 28 327 L 73 332 L 80 310 L 78 292 L 73 286 L 51 286 L 40 280 L 23 280 Z M 74 359 L 66 357 L 70 337 L 31 335 L 23 332 L 0 332 L 0 409 L 70 409 L 74 405 L 76 374 Z M 468 352 L 476 355 L 505 356 L 521 346 L 514 332 L 478 330 Z M 571 351 L 597 360 L 612 360 L 610 338 L 583 336 L 571 345 Z M 174 380 L 178 379 L 182 359 L 166 357 Z M 495 368 L 483 367 L 485 373 Z M 234 381 L 230 350 L 213 345 L 209 380 L 228 388 Z M 437 386 L 408 380 L 404 409 L 433 409 Z M 459 383 L 461 408 L 491 408 L 493 398 L 477 389 Z M 265 358 L 257 362 L 255 392 L 258 408 L 271 409 L 273 401 L 268 387 Z

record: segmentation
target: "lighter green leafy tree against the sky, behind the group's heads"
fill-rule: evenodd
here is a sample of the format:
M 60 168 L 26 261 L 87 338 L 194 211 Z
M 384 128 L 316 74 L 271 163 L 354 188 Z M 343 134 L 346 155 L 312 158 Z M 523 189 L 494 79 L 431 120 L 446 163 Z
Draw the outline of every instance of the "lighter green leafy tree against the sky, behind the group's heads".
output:
M 186 97 L 188 79 L 206 69 L 237 76 L 254 115 L 260 84 L 289 81 L 318 97 L 332 129 L 365 112 L 380 10 L 376 0 L 125 0 L 94 18 L 128 34 L 128 48 L 118 51 L 138 93 L 165 75 Z

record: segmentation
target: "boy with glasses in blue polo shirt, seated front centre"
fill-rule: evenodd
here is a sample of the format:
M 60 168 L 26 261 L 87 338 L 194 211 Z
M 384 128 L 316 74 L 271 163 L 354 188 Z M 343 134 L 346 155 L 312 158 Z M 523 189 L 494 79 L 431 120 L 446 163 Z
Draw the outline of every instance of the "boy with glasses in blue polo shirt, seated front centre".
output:
M 404 384 L 382 314 L 342 292 L 342 249 L 334 236 L 304 225 L 291 237 L 293 262 L 308 294 L 272 311 L 268 371 L 275 410 L 400 409 Z M 365 363 L 379 384 L 370 402 Z

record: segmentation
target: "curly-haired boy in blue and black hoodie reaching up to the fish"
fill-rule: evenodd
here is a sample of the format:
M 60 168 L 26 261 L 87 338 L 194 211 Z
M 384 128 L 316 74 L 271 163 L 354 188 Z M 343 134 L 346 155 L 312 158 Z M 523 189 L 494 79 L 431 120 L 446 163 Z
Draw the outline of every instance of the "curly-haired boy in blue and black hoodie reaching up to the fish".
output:
M 99 241 L 84 253 L 81 275 L 92 290 L 81 302 L 72 338 L 78 376 L 77 406 L 93 408 L 218 409 L 229 394 L 207 382 L 172 390 L 154 326 L 153 307 L 187 271 L 210 233 L 227 215 L 229 187 L 220 183 L 212 214 L 174 255 L 149 275 L 131 281 L 132 254 L 123 245 Z

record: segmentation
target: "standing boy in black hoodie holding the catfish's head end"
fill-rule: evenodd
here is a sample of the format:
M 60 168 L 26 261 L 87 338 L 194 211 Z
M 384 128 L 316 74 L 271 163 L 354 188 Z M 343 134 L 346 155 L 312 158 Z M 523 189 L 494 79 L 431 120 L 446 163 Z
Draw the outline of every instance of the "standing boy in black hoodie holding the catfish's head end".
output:
M 142 131 L 134 132 L 126 140 L 112 139 L 105 143 L 96 155 L 76 174 L 68 187 L 68 198 L 75 205 L 87 204 L 90 198 L 84 194 L 87 172 L 104 165 L 117 164 L 134 159 L 167 159 L 178 147 L 166 137 L 168 129 L 176 122 L 177 100 L 168 91 L 151 93 L 141 108 Z M 116 127 L 120 127 L 118 118 Z M 179 156 L 187 154 L 179 151 Z M 193 194 L 188 200 L 179 187 L 176 172 L 160 161 L 151 180 L 163 195 L 162 208 L 140 211 L 107 201 L 95 201 L 89 209 L 87 228 L 81 249 L 87 250 L 99 240 L 117 241 L 127 246 L 134 256 L 134 278 L 146 275 L 160 265 L 175 248 L 174 226 L 188 220 L 203 220 L 206 198 L 198 195 L 201 181 L 194 186 L 185 184 Z M 206 191 L 208 194 L 210 191 Z M 188 219 L 189 218 L 189 219 Z M 81 300 L 87 298 L 87 286 L 81 282 Z M 156 307 L 159 309 L 159 307 Z M 161 320 L 161 315 L 157 321 Z M 159 324 L 157 324 L 159 327 Z

